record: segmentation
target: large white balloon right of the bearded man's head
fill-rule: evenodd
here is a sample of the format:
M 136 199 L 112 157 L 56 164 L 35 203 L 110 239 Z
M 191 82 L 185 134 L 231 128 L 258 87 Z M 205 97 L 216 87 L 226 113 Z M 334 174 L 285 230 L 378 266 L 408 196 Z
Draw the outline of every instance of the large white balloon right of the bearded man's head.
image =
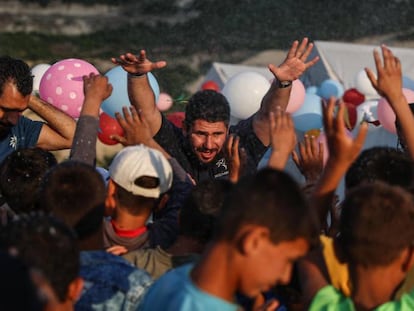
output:
M 260 108 L 270 82 L 257 72 L 245 71 L 232 76 L 224 85 L 223 95 L 230 104 L 230 114 L 247 119 Z

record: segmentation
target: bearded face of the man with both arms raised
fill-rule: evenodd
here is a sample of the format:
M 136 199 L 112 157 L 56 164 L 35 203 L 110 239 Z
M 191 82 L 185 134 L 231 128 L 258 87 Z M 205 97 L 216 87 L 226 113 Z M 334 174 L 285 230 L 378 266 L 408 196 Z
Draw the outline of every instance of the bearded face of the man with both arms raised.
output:
M 223 148 L 227 138 L 227 126 L 223 121 L 195 120 L 188 131 L 194 153 L 202 163 L 209 163 Z

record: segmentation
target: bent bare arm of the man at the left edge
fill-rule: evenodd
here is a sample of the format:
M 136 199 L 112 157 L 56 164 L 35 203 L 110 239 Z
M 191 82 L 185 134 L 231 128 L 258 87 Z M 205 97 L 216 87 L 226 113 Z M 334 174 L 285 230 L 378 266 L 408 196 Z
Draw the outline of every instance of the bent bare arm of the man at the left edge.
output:
M 75 134 L 75 120 L 37 96 L 31 95 L 29 108 L 47 124 L 43 125 L 36 146 L 45 150 L 68 149 Z

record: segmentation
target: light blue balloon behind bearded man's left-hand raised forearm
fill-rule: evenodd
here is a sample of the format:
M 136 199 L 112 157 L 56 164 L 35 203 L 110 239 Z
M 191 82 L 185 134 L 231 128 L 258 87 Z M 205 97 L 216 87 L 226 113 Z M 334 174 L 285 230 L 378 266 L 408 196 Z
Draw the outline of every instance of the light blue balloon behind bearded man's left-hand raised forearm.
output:
M 108 77 L 109 83 L 112 84 L 112 94 L 102 102 L 102 110 L 115 118 L 115 112 L 122 115 L 122 107 L 129 106 L 128 97 L 128 80 L 127 72 L 121 66 L 116 66 L 109 70 L 105 76 Z M 152 91 L 154 92 L 155 102 L 158 102 L 160 95 L 160 87 L 154 75 L 149 72 L 147 74 Z M 144 79 L 144 78 L 141 78 Z

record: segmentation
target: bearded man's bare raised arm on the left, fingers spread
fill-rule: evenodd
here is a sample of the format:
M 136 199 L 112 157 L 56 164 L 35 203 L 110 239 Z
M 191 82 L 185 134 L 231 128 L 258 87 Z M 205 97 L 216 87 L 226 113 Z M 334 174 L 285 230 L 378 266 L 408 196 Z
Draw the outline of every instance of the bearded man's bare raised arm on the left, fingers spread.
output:
M 162 119 L 147 74 L 154 69 L 165 67 L 167 63 L 151 62 L 144 50 L 141 50 L 139 55 L 126 53 L 111 60 L 114 64 L 121 65 L 128 73 L 128 96 L 131 105 L 147 120 L 151 135 L 154 136 L 161 127 Z

